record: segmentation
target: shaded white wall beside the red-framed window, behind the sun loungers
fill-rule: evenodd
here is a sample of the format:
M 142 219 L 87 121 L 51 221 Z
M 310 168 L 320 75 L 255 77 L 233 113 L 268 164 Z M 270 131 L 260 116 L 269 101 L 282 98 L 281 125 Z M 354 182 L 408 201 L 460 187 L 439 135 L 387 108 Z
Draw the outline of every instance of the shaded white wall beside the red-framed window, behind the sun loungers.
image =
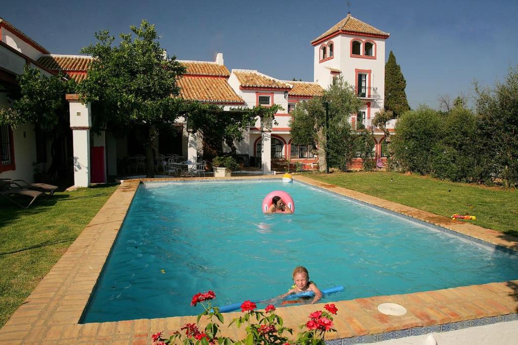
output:
M 33 124 L 20 126 L 12 131 L 15 145 L 16 170 L 0 173 L 0 178 L 24 179 L 34 182 L 33 162 L 36 162 L 36 138 Z M 25 136 L 25 138 L 24 138 Z

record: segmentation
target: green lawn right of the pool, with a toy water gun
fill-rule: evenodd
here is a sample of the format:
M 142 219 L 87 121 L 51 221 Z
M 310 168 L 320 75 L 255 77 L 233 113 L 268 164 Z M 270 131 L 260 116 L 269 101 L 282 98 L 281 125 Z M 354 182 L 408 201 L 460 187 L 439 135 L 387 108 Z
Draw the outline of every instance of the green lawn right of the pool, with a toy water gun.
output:
M 477 216 L 478 226 L 518 236 L 518 191 L 392 172 L 309 174 L 320 181 L 450 217 Z

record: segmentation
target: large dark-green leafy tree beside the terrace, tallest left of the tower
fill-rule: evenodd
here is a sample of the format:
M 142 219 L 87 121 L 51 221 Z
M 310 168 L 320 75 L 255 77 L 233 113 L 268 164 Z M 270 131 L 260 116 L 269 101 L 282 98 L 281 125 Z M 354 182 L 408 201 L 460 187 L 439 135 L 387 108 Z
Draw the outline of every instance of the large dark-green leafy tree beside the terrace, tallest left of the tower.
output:
M 120 34 L 120 42 L 104 30 L 97 43 L 81 50 L 93 56 L 88 79 L 80 85 L 84 101 L 97 102 L 97 126 L 133 128 L 147 157 L 147 175 L 154 176 L 153 140 L 161 126 L 172 126 L 183 114 L 177 85 L 185 68 L 175 56 L 165 56 L 154 25 L 143 20 Z

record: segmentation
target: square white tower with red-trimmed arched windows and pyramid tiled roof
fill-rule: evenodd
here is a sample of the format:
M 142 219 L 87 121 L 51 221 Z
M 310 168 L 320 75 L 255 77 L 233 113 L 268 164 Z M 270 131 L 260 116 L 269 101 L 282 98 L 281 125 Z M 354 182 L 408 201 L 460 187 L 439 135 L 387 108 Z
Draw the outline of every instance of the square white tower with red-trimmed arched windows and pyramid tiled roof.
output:
M 327 88 L 334 78 L 341 76 L 353 85 L 357 96 L 365 100 L 359 114 L 363 120 L 372 119 L 383 108 L 385 40 L 389 36 L 348 13 L 311 41 L 315 83 Z

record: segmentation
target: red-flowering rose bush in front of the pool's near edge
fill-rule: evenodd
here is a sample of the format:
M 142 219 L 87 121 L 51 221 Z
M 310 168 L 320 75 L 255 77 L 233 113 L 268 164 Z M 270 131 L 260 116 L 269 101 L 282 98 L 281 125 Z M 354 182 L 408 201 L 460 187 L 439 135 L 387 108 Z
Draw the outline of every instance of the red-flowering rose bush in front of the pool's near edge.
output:
M 218 307 L 212 307 L 210 300 L 214 299 L 216 295 L 212 291 L 205 293 L 198 292 L 192 297 L 191 306 L 196 306 L 200 303 L 204 307 L 204 312 L 198 315 L 196 323 L 186 323 L 180 328 L 180 331 L 175 331 L 168 339 L 163 338 L 163 332 L 155 333 L 151 336 L 155 345 L 166 344 L 191 344 L 191 345 L 208 345 L 208 344 L 223 344 L 223 345 L 253 345 L 253 344 L 268 344 L 268 345 L 324 345 L 324 338 L 327 332 L 336 332 L 333 329 L 333 317 L 336 315 L 338 309 L 334 304 L 326 304 L 325 311 L 317 310 L 309 314 L 309 321 L 300 325 L 300 329 L 306 328 L 305 331 L 300 332 L 296 336 L 295 342 L 291 341 L 290 336 L 293 335 L 293 329 L 283 326 L 282 318 L 274 311 L 275 306 L 268 305 L 264 312 L 255 310 L 257 305 L 251 301 L 245 301 L 241 304 L 241 312 L 244 315 L 233 319 L 228 326 L 236 324 L 239 328 L 246 324 L 246 337 L 241 340 L 234 340 L 221 336 L 220 327 L 224 325 L 223 314 L 219 312 Z M 208 319 L 207 326 L 201 331 L 199 329 L 199 320 L 206 316 Z

